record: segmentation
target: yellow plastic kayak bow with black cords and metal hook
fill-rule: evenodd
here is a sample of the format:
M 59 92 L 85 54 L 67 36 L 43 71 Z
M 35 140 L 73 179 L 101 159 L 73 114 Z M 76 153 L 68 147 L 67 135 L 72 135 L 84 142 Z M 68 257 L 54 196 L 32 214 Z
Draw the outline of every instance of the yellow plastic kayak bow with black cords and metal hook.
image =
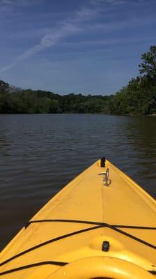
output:
M 102 158 L 68 183 L 0 253 L 3 279 L 152 279 L 156 202 Z

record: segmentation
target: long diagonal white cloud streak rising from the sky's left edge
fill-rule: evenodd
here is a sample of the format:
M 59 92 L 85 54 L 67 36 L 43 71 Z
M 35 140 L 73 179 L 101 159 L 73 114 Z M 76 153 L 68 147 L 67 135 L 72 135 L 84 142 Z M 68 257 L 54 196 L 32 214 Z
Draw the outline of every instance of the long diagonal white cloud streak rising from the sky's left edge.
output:
M 3 0 L 3 1 L 11 1 L 11 0 Z M 20 61 L 24 61 L 25 59 L 28 59 L 30 56 L 33 56 L 38 52 L 41 52 L 42 50 L 45 50 L 49 47 L 53 47 L 54 45 L 58 44 L 61 40 L 63 40 L 63 38 L 70 36 L 73 33 L 77 33 L 78 31 L 80 31 L 78 22 L 91 20 L 91 18 L 97 15 L 97 13 L 98 10 L 96 9 L 93 10 L 90 8 L 82 8 L 81 10 L 78 11 L 78 13 L 75 15 L 75 17 L 72 20 L 63 22 L 61 24 L 61 27 L 59 27 L 57 31 L 51 31 L 49 33 L 46 33 L 45 36 L 42 36 L 40 42 L 37 45 L 34 45 L 33 47 L 29 48 L 29 50 L 27 50 L 26 52 L 18 56 L 17 59 L 15 59 L 15 61 L 1 68 L 0 73 L 9 70 L 10 68 L 13 68 Z

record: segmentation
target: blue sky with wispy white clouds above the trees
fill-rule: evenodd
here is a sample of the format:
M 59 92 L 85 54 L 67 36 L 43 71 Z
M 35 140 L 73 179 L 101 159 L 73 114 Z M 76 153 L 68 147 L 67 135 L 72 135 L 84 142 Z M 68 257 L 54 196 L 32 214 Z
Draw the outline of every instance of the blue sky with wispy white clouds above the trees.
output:
M 56 93 L 109 94 L 156 45 L 155 0 L 0 0 L 0 79 Z

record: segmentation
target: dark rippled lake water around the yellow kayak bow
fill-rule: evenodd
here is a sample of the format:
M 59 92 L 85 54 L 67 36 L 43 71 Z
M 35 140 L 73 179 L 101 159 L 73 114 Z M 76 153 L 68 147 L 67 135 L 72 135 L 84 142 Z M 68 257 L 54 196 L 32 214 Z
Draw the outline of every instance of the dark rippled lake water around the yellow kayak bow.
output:
M 102 156 L 156 197 L 155 117 L 0 115 L 0 248 Z

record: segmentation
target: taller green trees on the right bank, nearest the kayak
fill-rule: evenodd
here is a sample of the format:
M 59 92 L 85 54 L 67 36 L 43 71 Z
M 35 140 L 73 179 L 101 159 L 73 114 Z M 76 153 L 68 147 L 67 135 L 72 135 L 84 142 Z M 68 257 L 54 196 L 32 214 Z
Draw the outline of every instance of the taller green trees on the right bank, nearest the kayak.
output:
M 156 114 L 156 45 L 141 56 L 139 73 L 110 100 L 111 114 Z

